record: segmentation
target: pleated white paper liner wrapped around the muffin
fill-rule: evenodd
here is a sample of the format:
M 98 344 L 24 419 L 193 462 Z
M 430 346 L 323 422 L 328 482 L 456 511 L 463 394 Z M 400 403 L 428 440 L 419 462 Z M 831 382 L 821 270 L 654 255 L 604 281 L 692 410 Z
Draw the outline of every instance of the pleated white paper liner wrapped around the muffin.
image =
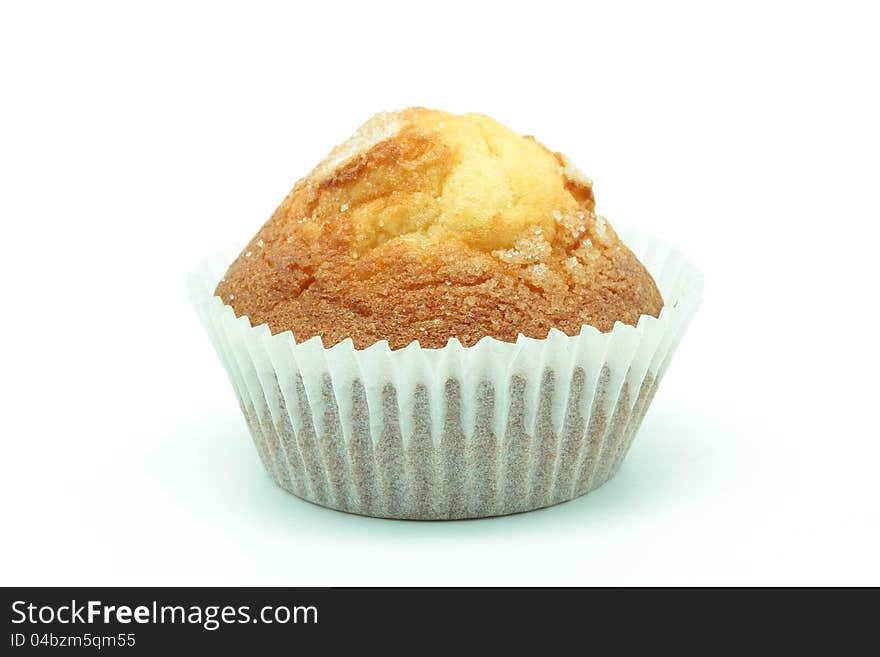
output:
M 237 251 L 204 262 L 188 289 L 279 486 L 369 516 L 503 515 L 583 495 L 617 472 L 700 304 L 702 275 L 687 258 L 647 233 L 618 233 L 664 308 L 609 333 L 325 349 L 318 337 L 251 327 L 214 296 Z

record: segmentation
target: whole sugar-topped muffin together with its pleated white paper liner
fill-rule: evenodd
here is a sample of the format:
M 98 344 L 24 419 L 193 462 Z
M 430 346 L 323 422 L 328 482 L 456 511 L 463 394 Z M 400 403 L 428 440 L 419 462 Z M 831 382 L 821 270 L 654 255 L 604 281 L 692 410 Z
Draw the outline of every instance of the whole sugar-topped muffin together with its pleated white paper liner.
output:
M 502 515 L 614 475 L 699 304 L 685 258 L 622 232 L 564 155 L 411 108 L 333 149 L 189 288 L 285 490 Z

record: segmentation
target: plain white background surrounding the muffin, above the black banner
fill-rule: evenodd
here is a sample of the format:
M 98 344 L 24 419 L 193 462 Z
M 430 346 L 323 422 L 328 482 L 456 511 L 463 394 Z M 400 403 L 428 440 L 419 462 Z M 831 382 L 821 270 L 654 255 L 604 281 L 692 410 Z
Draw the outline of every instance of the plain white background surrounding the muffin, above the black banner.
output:
M 5 3 L 0 583 L 880 584 L 878 27 L 846 2 Z M 705 271 L 591 495 L 386 521 L 262 470 L 185 275 L 414 104 L 564 151 Z

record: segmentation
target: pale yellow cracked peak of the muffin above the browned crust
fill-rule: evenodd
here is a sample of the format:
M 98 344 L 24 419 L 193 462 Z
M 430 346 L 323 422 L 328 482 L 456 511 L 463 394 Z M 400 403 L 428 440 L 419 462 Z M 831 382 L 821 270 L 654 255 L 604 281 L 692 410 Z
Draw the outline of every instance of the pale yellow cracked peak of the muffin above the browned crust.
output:
M 560 222 L 592 211 L 590 181 L 535 140 L 481 114 L 404 114 L 374 117 L 307 181 L 315 218 L 347 214 L 358 255 L 395 238 L 492 252 L 540 231 L 552 243 Z

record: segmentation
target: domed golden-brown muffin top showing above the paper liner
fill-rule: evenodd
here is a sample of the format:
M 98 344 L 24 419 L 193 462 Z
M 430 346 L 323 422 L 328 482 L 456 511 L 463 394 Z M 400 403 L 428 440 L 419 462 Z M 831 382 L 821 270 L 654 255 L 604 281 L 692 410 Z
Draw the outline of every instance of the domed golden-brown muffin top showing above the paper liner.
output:
M 378 114 L 299 180 L 215 292 L 272 333 L 392 349 L 657 316 L 592 183 L 481 114 Z

